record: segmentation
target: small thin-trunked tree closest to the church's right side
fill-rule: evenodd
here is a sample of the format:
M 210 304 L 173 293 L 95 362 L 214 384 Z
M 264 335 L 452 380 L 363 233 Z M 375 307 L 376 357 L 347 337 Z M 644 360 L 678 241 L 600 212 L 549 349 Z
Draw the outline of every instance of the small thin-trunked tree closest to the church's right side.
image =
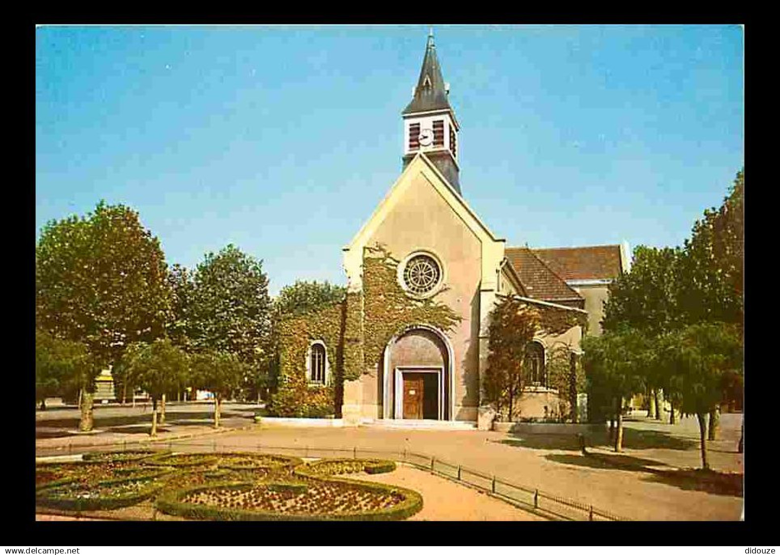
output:
M 590 392 L 597 398 L 612 400 L 612 414 L 617 422 L 615 451 L 622 451 L 623 401 L 641 393 L 647 383 L 647 336 L 633 329 L 586 336 L 582 341 L 583 366 L 590 382 Z

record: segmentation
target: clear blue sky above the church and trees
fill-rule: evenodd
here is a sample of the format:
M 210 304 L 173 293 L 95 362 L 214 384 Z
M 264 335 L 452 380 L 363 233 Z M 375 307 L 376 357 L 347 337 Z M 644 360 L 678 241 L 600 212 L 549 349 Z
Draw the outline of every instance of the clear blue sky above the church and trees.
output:
M 38 27 L 36 237 L 97 201 L 169 264 L 346 283 L 428 27 Z M 682 244 L 743 165 L 738 26 L 438 26 L 463 196 L 509 245 Z

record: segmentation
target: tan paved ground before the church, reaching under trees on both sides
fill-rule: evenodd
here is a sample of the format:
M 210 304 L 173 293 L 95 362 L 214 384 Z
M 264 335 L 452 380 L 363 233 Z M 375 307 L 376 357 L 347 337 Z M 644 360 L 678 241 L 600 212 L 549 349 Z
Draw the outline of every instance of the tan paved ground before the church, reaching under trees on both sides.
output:
M 186 414 L 192 405 L 183 405 Z M 232 408 L 232 410 L 231 410 Z M 100 429 L 102 407 L 96 411 L 96 425 Z M 206 409 L 207 410 L 207 409 Z M 168 432 L 160 439 L 176 439 L 186 434 L 195 437 L 181 439 L 179 446 L 190 450 L 222 448 L 225 450 L 254 450 L 271 447 L 346 447 L 371 450 L 409 450 L 433 455 L 445 461 L 463 464 L 487 474 L 495 474 L 521 486 L 539 488 L 546 493 L 565 496 L 593 504 L 597 509 L 609 511 L 636 520 L 737 520 L 742 511 L 743 499 L 739 496 L 711 493 L 696 483 L 683 483 L 642 471 L 641 465 L 666 465 L 675 467 L 700 467 L 698 429 L 695 418 L 683 418 L 678 424 L 647 421 L 637 417 L 626 422 L 625 452 L 615 454 L 606 445 L 590 447 L 591 451 L 605 457 L 624 457 L 637 463 L 635 468 L 615 468 L 595 457 L 584 457 L 573 436 L 515 436 L 501 432 L 438 431 L 377 428 L 276 428 L 261 429 L 251 422 L 254 407 L 225 405 L 226 428 L 235 431 L 212 435 L 208 422 L 181 422 L 190 419 L 207 420 L 207 414 L 192 418 L 173 417 L 175 407 L 168 408 Z M 49 413 L 49 411 L 44 411 Z M 56 411 L 51 411 L 54 413 Z M 232 414 L 231 414 L 232 413 Z M 41 414 L 41 413 L 37 413 Z M 104 413 L 108 414 L 108 413 Z M 140 418 L 151 415 L 140 413 Z M 739 441 L 741 414 L 722 415 L 721 439 L 710 442 L 711 466 L 719 471 L 741 471 L 742 454 L 736 453 Z M 46 418 L 51 420 L 56 418 Z M 39 422 L 43 425 L 44 422 Z M 48 426 L 42 426 L 48 427 Z M 170 435 L 165 435 L 165 434 Z M 203 436 L 200 434 L 209 435 Z M 105 429 L 94 435 L 60 436 L 36 439 L 38 454 L 62 453 L 69 443 L 75 447 L 90 443 L 109 444 L 134 439 L 147 441 L 144 433 L 125 433 Z M 593 443 L 599 443 L 594 436 Z M 130 444 L 132 445 L 132 444 Z M 53 449 L 58 447 L 58 450 Z M 283 451 L 282 451 L 283 452 Z M 626 459 L 625 457 L 629 457 Z

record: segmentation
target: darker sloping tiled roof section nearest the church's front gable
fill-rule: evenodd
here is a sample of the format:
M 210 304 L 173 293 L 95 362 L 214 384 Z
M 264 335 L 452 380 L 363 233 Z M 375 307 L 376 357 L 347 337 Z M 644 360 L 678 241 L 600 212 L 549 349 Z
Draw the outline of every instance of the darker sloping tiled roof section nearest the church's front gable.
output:
M 506 258 L 527 290 L 528 297 L 582 308 L 583 297 L 566 285 L 544 261 L 528 247 L 507 247 Z

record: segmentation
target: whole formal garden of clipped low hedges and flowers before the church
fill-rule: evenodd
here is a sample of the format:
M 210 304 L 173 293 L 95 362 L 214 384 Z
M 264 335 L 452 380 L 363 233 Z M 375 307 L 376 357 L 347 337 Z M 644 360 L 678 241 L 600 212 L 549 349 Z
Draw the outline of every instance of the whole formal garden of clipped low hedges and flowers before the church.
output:
M 100 453 L 84 462 L 38 464 L 36 499 L 39 507 L 79 512 L 153 500 L 163 513 L 209 520 L 399 520 L 420 511 L 419 493 L 339 476 L 394 469 L 394 462 L 379 460 L 303 464 L 250 453 Z

